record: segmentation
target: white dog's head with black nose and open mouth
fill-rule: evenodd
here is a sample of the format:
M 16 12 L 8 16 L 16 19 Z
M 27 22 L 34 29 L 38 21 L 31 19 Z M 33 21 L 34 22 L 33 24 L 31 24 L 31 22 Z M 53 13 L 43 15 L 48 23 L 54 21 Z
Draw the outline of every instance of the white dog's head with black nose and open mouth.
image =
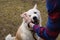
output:
M 31 18 L 31 22 L 34 24 L 39 24 L 40 22 L 40 11 L 37 9 L 37 4 L 35 6 L 28 10 L 27 15 Z

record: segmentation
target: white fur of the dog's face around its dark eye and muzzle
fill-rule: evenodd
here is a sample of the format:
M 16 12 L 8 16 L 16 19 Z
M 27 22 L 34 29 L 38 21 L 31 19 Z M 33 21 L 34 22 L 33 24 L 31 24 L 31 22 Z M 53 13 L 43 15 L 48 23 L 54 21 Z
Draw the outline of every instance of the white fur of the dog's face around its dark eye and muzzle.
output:
M 37 14 L 34 14 L 34 12 L 37 12 Z M 35 4 L 35 6 L 28 10 L 26 12 L 28 15 L 31 15 L 31 19 L 33 20 L 33 17 L 36 16 L 39 20 L 40 20 L 40 26 L 42 26 L 42 19 L 41 19 L 41 13 L 40 11 L 37 9 L 37 4 Z

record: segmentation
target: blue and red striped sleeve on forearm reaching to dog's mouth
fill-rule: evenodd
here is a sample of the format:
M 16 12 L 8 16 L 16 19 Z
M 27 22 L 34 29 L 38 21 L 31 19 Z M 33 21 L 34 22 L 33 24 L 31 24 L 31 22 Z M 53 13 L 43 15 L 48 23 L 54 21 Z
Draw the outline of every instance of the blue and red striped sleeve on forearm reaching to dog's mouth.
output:
M 51 32 L 47 28 L 40 27 L 39 25 L 34 25 L 33 30 L 44 40 L 55 40 L 58 35 L 58 32 Z

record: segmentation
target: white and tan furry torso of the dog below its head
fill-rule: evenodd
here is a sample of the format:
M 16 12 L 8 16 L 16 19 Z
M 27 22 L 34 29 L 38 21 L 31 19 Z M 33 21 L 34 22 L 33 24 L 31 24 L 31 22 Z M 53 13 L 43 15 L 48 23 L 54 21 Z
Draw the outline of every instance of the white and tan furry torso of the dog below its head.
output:
M 19 33 L 18 36 L 21 37 L 22 40 L 34 40 L 32 33 L 26 26 L 27 24 L 23 22 L 17 31 L 17 34 Z

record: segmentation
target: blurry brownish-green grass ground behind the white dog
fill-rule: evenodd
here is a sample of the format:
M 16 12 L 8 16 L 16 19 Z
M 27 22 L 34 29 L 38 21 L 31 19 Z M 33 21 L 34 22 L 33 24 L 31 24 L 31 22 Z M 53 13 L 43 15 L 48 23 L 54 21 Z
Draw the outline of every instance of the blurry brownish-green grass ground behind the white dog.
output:
M 4 40 L 9 33 L 15 36 L 22 21 L 20 14 L 31 9 L 35 3 L 38 4 L 42 15 L 42 24 L 45 26 L 47 11 L 45 2 L 42 0 L 0 0 L 0 40 Z

